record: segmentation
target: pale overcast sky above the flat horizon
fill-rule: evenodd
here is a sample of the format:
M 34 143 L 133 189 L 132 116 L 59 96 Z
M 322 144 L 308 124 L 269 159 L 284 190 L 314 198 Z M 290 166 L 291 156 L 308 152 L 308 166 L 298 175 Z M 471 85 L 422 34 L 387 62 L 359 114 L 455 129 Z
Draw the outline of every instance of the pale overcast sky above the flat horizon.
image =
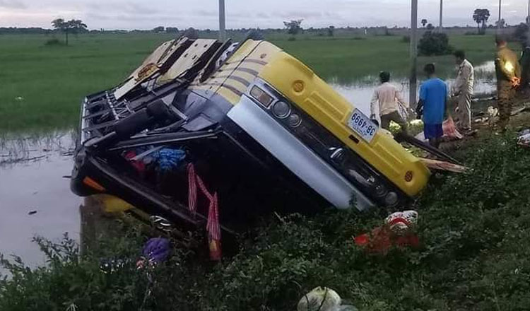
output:
M 418 18 L 437 25 L 438 0 L 420 0 Z M 503 18 L 524 21 L 526 0 L 503 0 Z M 410 25 L 411 0 L 226 0 L 227 28 L 283 28 L 283 20 L 303 18 L 302 26 L 359 27 Z M 445 25 L 475 25 L 475 8 L 497 19 L 497 0 L 444 0 Z M 81 19 L 90 29 L 216 29 L 217 0 L 0 0 L 0 27 L 49 28 L 54 18 Z

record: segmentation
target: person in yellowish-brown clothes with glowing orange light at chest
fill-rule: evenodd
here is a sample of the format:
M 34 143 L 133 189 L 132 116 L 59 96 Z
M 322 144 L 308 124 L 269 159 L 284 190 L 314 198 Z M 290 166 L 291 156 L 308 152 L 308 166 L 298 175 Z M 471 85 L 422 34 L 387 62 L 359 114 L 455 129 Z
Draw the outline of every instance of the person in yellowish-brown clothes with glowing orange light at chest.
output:
M 512 101 L 515 89 L 521 84 L 521 66 L 515 54 L 508 48 L 507 40 L 497 35 L 497 54 L 495 55 L 495 72 L 497 74 L 497 106 L 499 108 L 498 127 L 506 131 L 510 115 L 512 114 Z

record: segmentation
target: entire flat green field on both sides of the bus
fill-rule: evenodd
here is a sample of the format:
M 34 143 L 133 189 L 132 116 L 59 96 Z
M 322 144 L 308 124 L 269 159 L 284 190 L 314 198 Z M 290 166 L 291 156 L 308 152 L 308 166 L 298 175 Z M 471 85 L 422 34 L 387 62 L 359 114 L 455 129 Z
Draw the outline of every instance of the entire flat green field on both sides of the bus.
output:
M 170 39 L 166 34 L 90 34 L 71 37 L 71 45 L 46 45 L 45 35 L 0 36 L 0 131 L 45 131 L 75 127 L 85 95 L 117 85 L 147 54 Z M 408 73 L 408 43 L 399 36 L 307 37 L 273 42 L 300 58 L 323 78 L 352 83 L 379 71 Z M 493 37 L 453 36 L 475 64 L 493 58 Z M 453 74 L 453 59 L 435 61 L 442 76 Z

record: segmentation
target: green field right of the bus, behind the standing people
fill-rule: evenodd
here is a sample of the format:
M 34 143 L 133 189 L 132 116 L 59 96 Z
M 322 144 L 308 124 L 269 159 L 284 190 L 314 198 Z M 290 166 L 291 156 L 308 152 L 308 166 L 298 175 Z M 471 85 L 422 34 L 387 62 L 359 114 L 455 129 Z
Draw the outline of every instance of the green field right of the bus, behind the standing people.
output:
M 287 52 L 302 59 L 326 79 L 336 78 L 348 84 L 365 76 L 376 76 L 379 71 L 390 71 L 396 78 L 406 78 L 409 72 L 409 43 L 401 37 L 379 36 L 367 40 L 354 38 L 320 39 L 276 42 Z M 491 36 L 453 36 L 450 44 L 464 49 L 473 64 L 493 60 L 494 40 Z M 442 77 L 454 75 L 454 57 L 419 57 L 418 69 L 434 62 Z M 418 71 L 420 72 L 420 71 Z

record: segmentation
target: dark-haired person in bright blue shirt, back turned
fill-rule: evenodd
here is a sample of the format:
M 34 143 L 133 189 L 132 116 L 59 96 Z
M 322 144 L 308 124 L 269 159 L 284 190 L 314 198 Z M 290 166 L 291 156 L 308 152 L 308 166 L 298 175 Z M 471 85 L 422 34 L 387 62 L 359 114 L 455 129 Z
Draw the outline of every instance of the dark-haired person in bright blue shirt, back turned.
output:
M 438 148 L 444 134 L 442 124 L 447 107 L 447 84 L 436 77 L 435 64 L 426 64 L 423 69 L 428 77 L 420 87 L 420 101 L 416 112 L 423 115 L 423 132 L 430 146 Z

